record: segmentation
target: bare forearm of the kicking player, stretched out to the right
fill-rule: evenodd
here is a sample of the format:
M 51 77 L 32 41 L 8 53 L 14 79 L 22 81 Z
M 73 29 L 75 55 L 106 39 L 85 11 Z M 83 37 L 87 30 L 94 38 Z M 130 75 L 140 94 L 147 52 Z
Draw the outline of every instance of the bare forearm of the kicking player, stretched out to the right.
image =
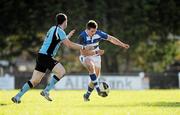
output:
M 128 44 L 123 43 L 122 41 L 120 41 L 119 39 L 115 38 L 114 36 L 108 35 L 108 39 L 107 39 L 107 40 L 108 40 L 109 42 L 111 42 L 112 44 L 114 44 L 114 45 L 123 47 L 123 48 L 125 48 L 125 49 L 128 49 L 128 48 L 129 48 L 129 45 L 128 45 Z

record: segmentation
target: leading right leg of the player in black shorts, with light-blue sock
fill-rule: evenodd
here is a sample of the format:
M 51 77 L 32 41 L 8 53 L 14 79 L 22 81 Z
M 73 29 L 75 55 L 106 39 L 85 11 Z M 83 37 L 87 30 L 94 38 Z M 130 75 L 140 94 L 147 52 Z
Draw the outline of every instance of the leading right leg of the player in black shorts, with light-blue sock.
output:
M 40 93 L 48 101 L 52 101 L 52 99 L 49 97 L 49 91 L 65 74 L 65 69 L 60 63 L 56 64 L 52 71 L 54 75 L 51 77 L 50 82 L 47 84 L 46 88 Z

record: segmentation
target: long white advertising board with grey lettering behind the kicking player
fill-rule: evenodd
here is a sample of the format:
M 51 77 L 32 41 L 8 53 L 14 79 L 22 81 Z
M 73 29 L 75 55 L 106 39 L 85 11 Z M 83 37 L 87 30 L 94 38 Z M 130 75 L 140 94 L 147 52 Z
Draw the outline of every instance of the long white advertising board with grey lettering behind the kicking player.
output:
M 143 73 L 134 76 L 102 75 L 99 80 L 106 81 L 111 89 L 149 89 L 149 81 Z M 55 89 L 87 89 L 89 81 L 88 75 L 68 75 L 55 85 Z

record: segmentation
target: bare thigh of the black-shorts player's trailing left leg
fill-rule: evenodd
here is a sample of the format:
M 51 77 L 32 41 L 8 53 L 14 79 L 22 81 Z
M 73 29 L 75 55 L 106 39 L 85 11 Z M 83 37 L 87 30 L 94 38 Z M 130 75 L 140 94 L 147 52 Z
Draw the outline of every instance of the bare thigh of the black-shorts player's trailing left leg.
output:
M 31 83 L 33 85 L 36 85 L 37 83 L 39 83 L 41 81 L 41 79 L 43 78 L 44 75 L 45 75 L 44 72 L 34 70 L 33 74 L 32 74 L 32 78 L 30 79 Z

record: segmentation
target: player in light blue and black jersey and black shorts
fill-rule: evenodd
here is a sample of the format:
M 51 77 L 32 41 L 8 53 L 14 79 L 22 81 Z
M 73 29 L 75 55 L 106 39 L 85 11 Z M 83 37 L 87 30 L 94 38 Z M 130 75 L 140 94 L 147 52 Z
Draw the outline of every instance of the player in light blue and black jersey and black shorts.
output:
M 52 71 L 54 75 L 51 77 L 46 88 L 40 93 L 48 101 L 52 101 L 49 97 L 49 91 L 54 87 L 54 85 L 64 76 L 65 69 L 54 59 L 59 46 L 64 44 L 68 48 L 80 50 L 80 49 L 92 49 L 92 46 L 84 46 L 71 42 L 70 38 L 75 30 L 72 30 L 67 36 L 64 29 L 67 27 L 67 16 L 63 13 L 56 15 L 56 26 L 52 26 L 47 32 L 44 42 L 39 50 L 36 59 L 36 67 L 33 71 L 32 78 L 23 85 L 22 89 L 17 95 L 11 98 L 14 103 L 20 103 L 21 97 L 32 87 L 35 87 L 40 83 L 41 79 L 45 75 L 47 69 Z M 98 52 L 99 53 L 99 52 Z

